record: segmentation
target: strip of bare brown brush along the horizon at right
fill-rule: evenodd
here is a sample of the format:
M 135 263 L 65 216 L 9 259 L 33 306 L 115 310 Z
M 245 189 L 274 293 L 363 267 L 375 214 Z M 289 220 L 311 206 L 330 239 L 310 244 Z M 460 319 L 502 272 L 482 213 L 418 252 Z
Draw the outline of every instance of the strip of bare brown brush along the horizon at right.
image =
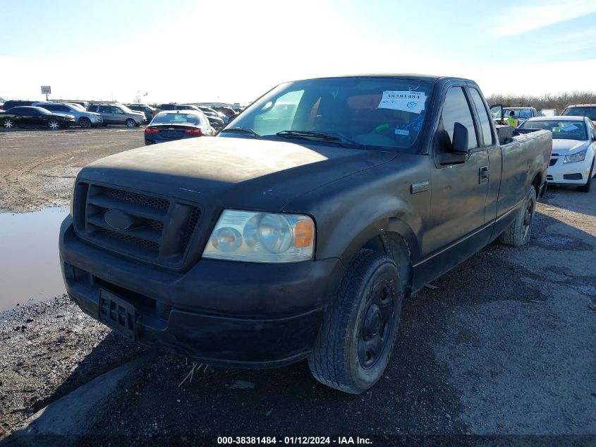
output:
M 546 93 L 542 96 L 524 95 L 490 95 L 487 97 L 489 105 L 502 104 L 509 107 L 535 107 L 540 109 L 557 109 L 561 113 L 568 105 L 596 104 L 596 92 L 566 92 L 557 95 Z

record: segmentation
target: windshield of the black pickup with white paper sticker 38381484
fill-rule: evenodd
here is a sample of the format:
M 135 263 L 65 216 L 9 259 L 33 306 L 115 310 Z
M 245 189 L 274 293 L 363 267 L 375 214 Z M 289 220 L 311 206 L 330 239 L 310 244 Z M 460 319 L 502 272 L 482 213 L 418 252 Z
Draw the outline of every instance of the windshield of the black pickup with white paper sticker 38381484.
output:
M 228 129 L 249 129 L 262 138 L 313 139 L 314 133 L 327 133 L 348 147 L 412 148 L 425 121 L 432 86 L 415 78 L 381 77 L 284 83 L 250 105 Z

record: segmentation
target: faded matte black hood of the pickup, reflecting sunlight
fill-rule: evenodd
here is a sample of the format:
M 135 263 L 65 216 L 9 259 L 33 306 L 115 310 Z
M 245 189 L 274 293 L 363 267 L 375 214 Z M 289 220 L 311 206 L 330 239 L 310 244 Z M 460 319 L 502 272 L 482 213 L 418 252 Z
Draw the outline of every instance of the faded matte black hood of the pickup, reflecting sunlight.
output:
M 200 137 L 111 155 L 87 165 L 79 179 L 182 198 L 207 208 L 281 211 L 293 198 L 394 157 L 310 142 Z

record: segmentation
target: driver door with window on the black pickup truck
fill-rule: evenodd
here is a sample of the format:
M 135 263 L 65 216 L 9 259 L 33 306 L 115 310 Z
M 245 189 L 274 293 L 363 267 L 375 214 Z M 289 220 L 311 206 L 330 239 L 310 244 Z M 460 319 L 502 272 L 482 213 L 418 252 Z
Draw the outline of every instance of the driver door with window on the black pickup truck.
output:
M 489 238 L 489 232 L 481 231 L 489 157 L 487 148 L 478 143 L 478 126 L 470 104 L 464 85 L 449 86 L 432 143 L 430 218 L 422 248 L 425 255 L 437 255 L 435 261 L 443 272 L 478 251 Z M 455 124 L 468 130 L 468 153 L 463 162 L 441 157 L 453 152 Z

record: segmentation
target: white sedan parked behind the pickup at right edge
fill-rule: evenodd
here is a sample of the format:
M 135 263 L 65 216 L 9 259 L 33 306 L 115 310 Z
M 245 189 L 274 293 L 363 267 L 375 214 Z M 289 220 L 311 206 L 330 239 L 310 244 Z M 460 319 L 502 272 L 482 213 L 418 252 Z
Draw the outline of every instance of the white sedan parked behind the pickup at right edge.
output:
M 590 191 L 596 174 L 596 129 L 586 117 L 535 117 L 520 129 L 552 131 L 552 155 L 547 171 L 551 184 L 577 185 L 578 191 Z

